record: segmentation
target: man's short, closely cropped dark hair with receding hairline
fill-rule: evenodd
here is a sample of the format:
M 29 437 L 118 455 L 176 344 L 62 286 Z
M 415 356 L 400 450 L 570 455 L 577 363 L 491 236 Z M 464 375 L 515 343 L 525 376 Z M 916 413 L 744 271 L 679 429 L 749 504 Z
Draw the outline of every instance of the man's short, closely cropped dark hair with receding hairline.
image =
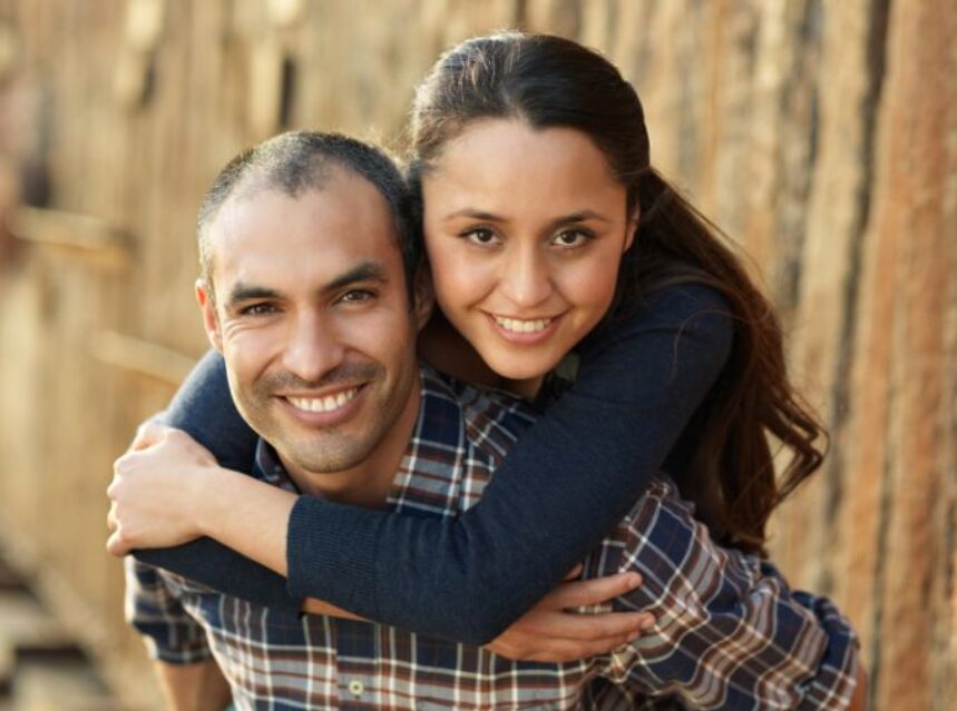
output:
M 406 284 L 412 294 L 413 275 L 421 256 L 418 227 L 409 213 L 409 190 L 396 161 L 382 149 L 363 141 L 320 131 L 290 131 L 248 148 L 233 158 L 213 181 L 196 218 L 199 269 L 212 294 L 212 249 L 209 227 L 223 205 L 238 191 L 279 190 L 299 197 L 306 190 L 321 190 L 332 170 L 343 168 L 368 180 L 385 199 L 396 231 Z

